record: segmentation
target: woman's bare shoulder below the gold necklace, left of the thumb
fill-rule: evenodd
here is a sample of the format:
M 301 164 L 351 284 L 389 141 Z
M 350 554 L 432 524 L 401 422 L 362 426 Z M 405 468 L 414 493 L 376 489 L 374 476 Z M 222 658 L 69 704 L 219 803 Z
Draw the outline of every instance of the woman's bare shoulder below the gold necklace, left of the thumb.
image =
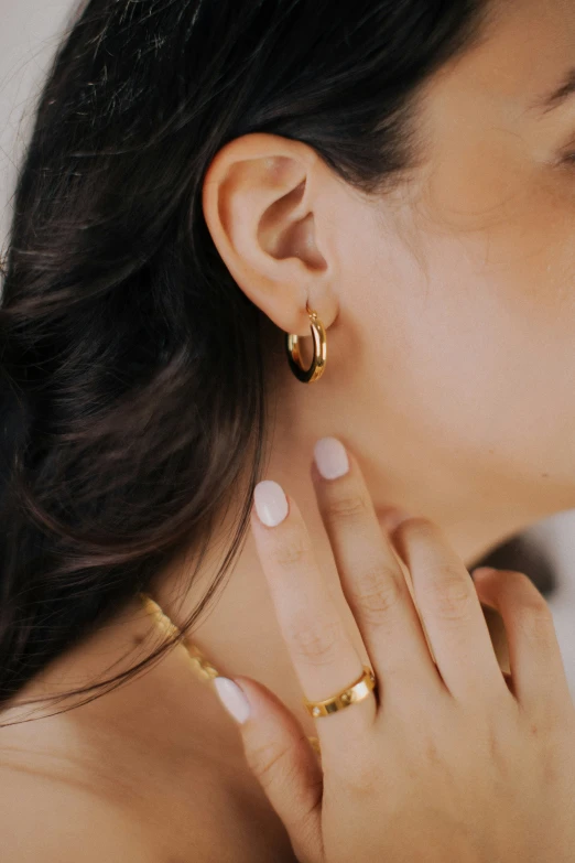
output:
M 20 719 L 0 725 L 1 863 L 294 863 L 232 720 L 191 681 L 187 655 L 106 698 Z

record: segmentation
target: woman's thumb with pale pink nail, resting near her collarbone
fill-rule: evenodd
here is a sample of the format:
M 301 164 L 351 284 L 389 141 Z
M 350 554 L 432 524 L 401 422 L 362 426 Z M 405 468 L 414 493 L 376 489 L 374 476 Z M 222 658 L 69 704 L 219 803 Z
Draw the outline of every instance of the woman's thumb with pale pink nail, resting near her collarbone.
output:
M 240 723 L 246 760 L 279 815 L 301 863 L 325 863 L 323 773 L 295 716 L 261 683 L 214 678 L 224 706 Z

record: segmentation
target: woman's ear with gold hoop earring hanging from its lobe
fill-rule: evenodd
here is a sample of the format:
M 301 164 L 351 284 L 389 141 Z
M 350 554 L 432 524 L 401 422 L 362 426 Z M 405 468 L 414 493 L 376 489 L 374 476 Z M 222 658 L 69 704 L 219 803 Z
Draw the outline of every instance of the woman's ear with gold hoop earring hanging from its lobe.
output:
M 310 335 L 306 302 L 326 327 L 337 316 L 336 262 L 322 236 L 332 225 L 323 218 L 329 182 L 312 148 L 265 133 L 227 143 L 204 180 L 204 216 L 224 263 L 286 333 Z

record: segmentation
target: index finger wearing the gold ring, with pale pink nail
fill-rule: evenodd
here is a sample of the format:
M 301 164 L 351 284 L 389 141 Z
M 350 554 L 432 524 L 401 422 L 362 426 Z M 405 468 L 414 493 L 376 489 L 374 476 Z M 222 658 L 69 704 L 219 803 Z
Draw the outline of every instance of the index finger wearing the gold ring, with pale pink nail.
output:
M 295 501 L 278 483 L 265 479 L 256 487 L 254 504 L 253 537 L 283 638 L 305 697 L 322 701 L 361 676 L 361 659 L 317 565 Z M 376 708 L 370 694 L 318 719 L 322 748 L 326 737 L 341 740 L 343 726 L 344 734 L 365 733 L 373 723 Z

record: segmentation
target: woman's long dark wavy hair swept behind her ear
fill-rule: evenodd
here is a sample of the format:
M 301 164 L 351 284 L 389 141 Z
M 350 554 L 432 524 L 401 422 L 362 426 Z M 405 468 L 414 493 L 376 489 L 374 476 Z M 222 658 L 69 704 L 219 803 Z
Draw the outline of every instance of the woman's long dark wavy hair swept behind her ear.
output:
M 481 39 L 486 10 L 486 0 L 80 10 L 36 106 L 0 308 L 0 708 L 183 549 L 199 549 L 199 564 L 240 486 L 229 552 L 181 637 L 246 535 L 270 400 L 261 313 L 203 217 L 213 158 L 270 132 L 383 193 L 424 159 L 416 97 Z M 68 694 L 119 686 L 178 638 Z

